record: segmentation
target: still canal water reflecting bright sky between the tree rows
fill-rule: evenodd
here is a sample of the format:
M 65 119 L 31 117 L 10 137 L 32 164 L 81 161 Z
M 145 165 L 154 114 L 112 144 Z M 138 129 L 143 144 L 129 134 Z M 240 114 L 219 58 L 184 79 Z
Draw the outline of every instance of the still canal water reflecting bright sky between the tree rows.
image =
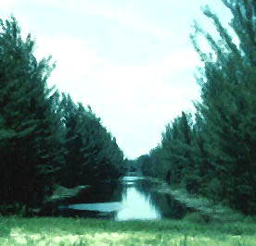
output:
M 71 204 L 59 207 L 59 215 L 123 220 L 182 218 L 190 209 L 169 194 L 158 191 L 158 184 L 139 177 L 124 177 L 101 183 L 84 191 Z

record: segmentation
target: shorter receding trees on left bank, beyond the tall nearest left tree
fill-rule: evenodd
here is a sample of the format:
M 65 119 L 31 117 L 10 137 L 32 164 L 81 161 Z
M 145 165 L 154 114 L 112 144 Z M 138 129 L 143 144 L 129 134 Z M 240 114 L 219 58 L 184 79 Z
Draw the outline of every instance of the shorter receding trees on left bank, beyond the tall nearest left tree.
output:
M 62 183 L 71 188 L 102 179 L 119 178 L 123 154 L 115 138 L 102 127 L 100 118 L 88 107 L 75 105 L 62 94 L 61 121 L 65 126 Z

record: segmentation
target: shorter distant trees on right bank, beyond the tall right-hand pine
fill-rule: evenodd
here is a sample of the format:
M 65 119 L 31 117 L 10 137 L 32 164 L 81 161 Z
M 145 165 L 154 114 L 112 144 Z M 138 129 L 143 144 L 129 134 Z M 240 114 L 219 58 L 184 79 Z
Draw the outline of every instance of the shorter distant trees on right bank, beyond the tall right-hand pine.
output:
M 180 183 L 191 173 L 194 163 L 191 157 L 192 117 L 182 112 L 162 133 L 161 144 L 150 151 L 142 171 L 147 176 L 165 179 L 168 183 Z

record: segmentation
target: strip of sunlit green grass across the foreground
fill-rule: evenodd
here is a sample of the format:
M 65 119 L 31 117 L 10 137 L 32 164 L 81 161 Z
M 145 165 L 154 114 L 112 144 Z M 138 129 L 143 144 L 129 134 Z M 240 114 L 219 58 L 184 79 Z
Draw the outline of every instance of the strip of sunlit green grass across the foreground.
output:
M 256 245 L 256 223 L 184 220 L 115 222 L 99 219 L 0 216 L 0 245 Z

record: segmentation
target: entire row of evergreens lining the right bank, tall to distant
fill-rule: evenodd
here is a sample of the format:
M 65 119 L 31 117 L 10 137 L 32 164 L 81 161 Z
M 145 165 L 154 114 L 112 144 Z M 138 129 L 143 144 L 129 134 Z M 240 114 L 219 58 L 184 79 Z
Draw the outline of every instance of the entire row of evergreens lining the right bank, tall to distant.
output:
M 256 4 L 222 0 L 232 13 L 231 36 L 207 6 L 219 38 L 195 23 L 191 34 L 203 67 L 195 115 L 182 112 L 165 127 L 160 144 L 136 163 L 146 176 L 165 179 L 247 215 L 256 214 Z M 210 44 L 203 51 L 198 39 Z

